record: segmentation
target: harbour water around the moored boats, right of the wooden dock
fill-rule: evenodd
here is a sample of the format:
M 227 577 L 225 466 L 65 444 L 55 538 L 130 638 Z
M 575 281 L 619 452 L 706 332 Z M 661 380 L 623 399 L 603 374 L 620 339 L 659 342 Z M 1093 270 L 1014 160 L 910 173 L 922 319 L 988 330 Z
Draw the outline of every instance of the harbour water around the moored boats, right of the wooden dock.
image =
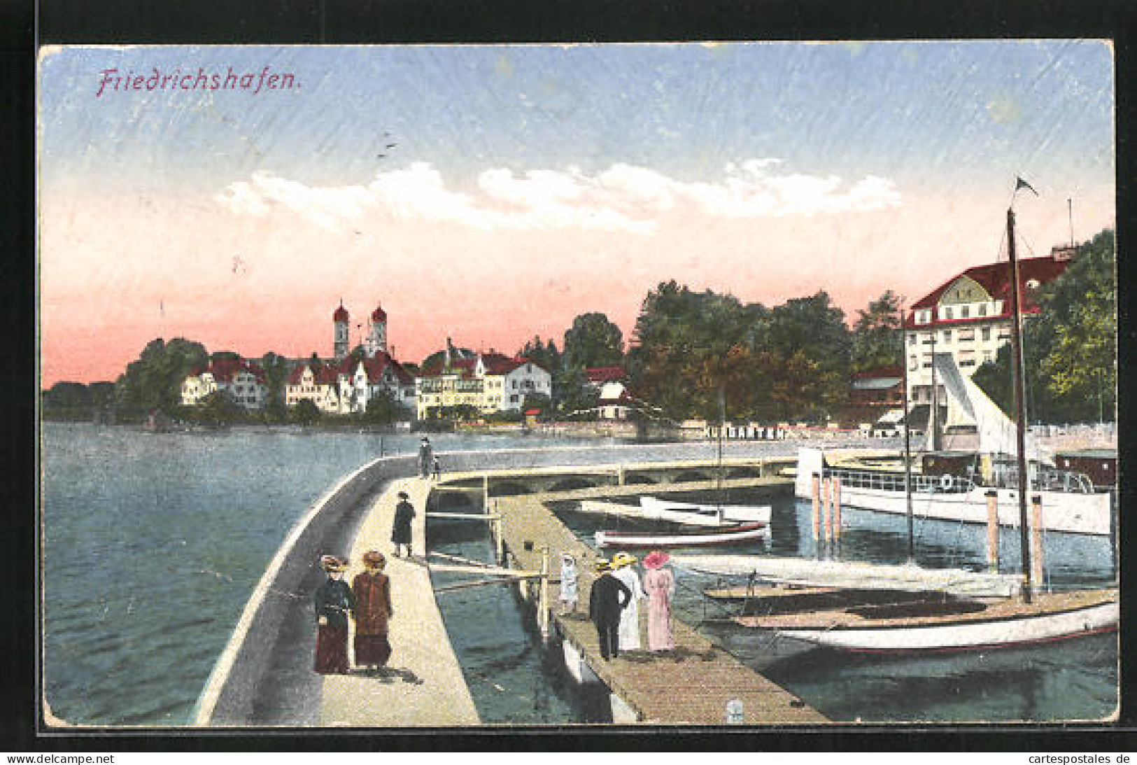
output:
M 714 501 L 689 494 L 691 500 Z M 731 548 L 735 552 L 814 557 L 808 501 L 763 499 L 735 492 L 741 504 L 772 505 L 769 546 Z M 600 529 L 634 527 L 626 519 L 604 519 L 562 506 L 559 516 L 586 543 Z M 622 525 L 621 525 L 622 524 Z M 846 531 L 836 557 L 903 563 L 907 531 L 903 516 L 845 509 Z M 916 562 L 930 568 L 980 571 L 986 564 L 986 529 L 919 521 Z M 1003 530 L 1001 569 L 1019 565 L 1019 533 Z M 681 554 L 684 550 L 675 550 Z M 687 550 L 705 552 L 705 550 Z M 825 551 L 825 555 L 835 555 Z M 1054 589 L 1111 587 L 1109 541 L 1077 534 L 1044 538 L 1048 584 Z M 1103 720 L 1118 705 L 1117 635 L 1095 635 L 1034 648 L 960 652 L 933 657 L 850 657 L 828 649 L 802 651 L 800 643 L 747 630 L 724 617 L 732 608 L 703 596 L 712 587 L 745 584 L 678 569 L 674 613 L 741 662 L 763 672 L 830 720 L 844 722 L 1019 722 Z

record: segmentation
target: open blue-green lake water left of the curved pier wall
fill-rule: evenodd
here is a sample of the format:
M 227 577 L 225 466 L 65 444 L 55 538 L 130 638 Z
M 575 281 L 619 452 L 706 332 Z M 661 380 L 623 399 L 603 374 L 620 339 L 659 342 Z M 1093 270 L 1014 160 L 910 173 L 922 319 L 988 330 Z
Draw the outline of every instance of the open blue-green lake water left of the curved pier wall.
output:
M 89 725 L 181 725 L 292 525 L 339 479 L 417 435 L 47 423 L 43 676 Z M 539 438 L 438 434 L 439 451 Z

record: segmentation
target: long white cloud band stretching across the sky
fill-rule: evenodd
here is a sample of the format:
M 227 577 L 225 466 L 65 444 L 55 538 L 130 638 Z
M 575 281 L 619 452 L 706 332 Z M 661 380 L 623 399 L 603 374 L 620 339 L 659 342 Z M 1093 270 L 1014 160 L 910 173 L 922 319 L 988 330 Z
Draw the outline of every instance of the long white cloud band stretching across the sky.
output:
M 684 182 L 658 171 L 617 163 L 588 175 L 578 168 L 521 175 L 491 168 L 463 193 L 447 188 L 428 163 L 380 173 L 367 185 L 308 186 L 255 174 L 216 196 L 235 215 L 274 210 L 340 232 L 372 214 L 450 223 L 482 231 L 583 230 L 648 234 L 675 210 L 740 219 L 856 214 L 896 207 L 901 194 L 887 178 L 847 184 L 838 176 L 772 173 L 781 160 L 731 163 L 716 182 Z

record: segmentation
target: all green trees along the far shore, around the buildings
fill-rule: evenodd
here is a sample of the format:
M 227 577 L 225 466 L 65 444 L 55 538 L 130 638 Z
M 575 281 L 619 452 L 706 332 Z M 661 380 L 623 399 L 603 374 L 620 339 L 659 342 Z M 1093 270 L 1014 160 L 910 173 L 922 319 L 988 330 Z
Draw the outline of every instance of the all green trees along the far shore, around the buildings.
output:
M 1106 230 L 1079 247 L 1065 272 L 1038 289 L 1039 313 L 1024 323 L 1023 349 L 1032 421 L 1067 423 L 1114 419 L 1117 385 L 1117 281 L 1114 234 Z M 899 298 L 886 291 L 856 311 L 852 326 L 829 294 L 792 298 L 766 307 L 732 294 L 695 291 L 674 280 L 661 282 L 644 298 L 630 341 L 603 313 L 578 315 L 561 338 L 534 335 L 516 350 L 553 375 L 553 397 L 525 398 L 522 409 L 542 416 L 591 418 L 599 392 L 586 369 L 623 366 L 640 415 L 671 421 L 729 419 L 777 422 L 839 418 L 846 410 L 850 376 L 903 363 Z M 362 352 L 360 349 L 356 351 Z M 356 352 L 352 351 L 352 352 Z M 426 367 L 445 351 L 423 360 Z M 314 422 L 315 406 L 288 409 L 283 385 L 294 363 L 265 354 L 268 399 L 264 410 L 243 413 L 231 402 L 182 407 L 181 385 L 210 358 L 191 340 L 151 341 L 111 383 L 63 382 L 43 392 L 45 418 L 89 419 L 114 408 L 121 421 L 161 411 L 182 418 L 252 418 L 262 422 Z M 313 354 L 318 363 L 318 357 Z M 406 365 L 415 369 L 414 365 Z M 984 364 L 974 381 L 1010 411 L 1010 346 Z M 720 404 L 721 401 L 721 404 Z M 471 416 L 473 413 L 457 413 Z M 407 413 L 389 397 L 368 402 L 365 422 L 391 422 Z M 517 418 L 499 415 L 496 418 Z

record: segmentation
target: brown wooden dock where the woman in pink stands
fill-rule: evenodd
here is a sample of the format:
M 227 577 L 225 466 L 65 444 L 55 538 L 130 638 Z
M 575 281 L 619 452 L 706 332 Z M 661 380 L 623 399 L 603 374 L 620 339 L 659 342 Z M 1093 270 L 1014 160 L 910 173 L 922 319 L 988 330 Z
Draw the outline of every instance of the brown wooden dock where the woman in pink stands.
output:
M 642 491 L 644 487 L 639 487 Z M 562 498 L 567 492 L 556 492 Z M 580 594 L 576 614 L 554 614 L 550 629 L 570 647 L 566 658 L 579 656 L 588 670 L 611 689 L 614 722 L 658 725 L 722 725 L 727 705 L 741 701 L 741 716 L 732 722 L 747 725 L 810 725 L 828 720 L 792 693 L 741 664 L 730 654 L 679 620 L 672 621 L 675 650 L 665 655 L 647 651 L 621 654 L 606 662 L 600 658 L 596 630 L 588 621 L 588 598 L 596 575 L 592 563 L 598 556 L 581 542 L 541 501 L 541 497 L 498 497 L 501 535 L 511 563 L 518 568 L 538 571 L 548 556 L 548 565 L 559 571 L 559 554 L 571 552 L 578 562 Z M 542 550 L 542 548 L 545 550 Z M 540 582 L 522 584 L 538 601 Z M 557 601 L 557 587 L 549 585 L 547 602 Z M 646 608 L 641 606 L 644 630 Z M 647 640 L 644 635 L 642 643 Z

